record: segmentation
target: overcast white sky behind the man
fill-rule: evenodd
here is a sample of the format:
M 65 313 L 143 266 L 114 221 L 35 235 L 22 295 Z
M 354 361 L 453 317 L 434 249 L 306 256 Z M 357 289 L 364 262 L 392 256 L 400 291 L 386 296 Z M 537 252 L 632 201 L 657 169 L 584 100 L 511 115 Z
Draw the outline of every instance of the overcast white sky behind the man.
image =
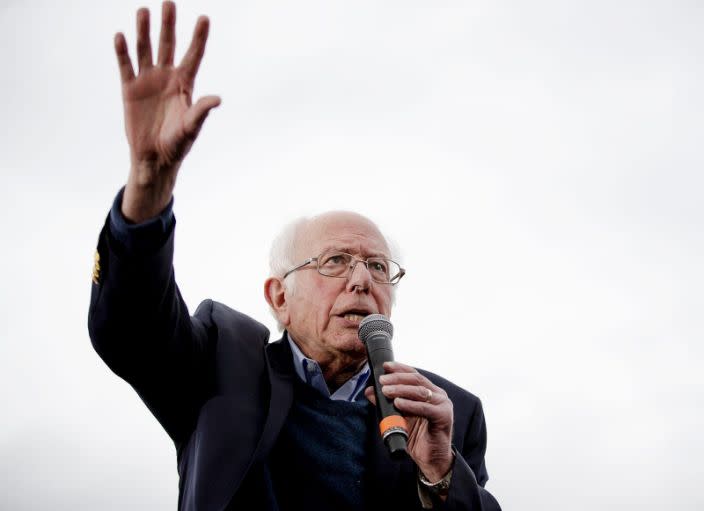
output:
M 223 98 L 176 190 L 187 303 L 273 329 L 275 233 L 359 211 L 408 269 L 396 357 L 482 398 L 504 509 L 702 509 L 702 5 L 180 2 Z M 137 7 L 0 2 L 2 509 L 176 508 L 173 446 L 86 329 Z

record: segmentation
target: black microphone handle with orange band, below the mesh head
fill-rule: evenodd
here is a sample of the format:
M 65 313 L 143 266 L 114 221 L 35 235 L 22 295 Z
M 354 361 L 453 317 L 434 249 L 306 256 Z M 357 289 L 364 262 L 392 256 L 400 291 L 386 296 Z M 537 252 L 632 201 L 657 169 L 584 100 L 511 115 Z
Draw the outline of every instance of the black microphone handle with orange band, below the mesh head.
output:
M 379 376 L 384 374 L 384 362 L 391 362 L 394 359 L 391 337 L 386 332 L 374 332 L 366 339 L 365 344 L 371 376 L 374 380 L 379 430 L 391 456 L 400 457 L 406 453 L 408 426 L 401 412 L 393 405 L 393 401 L 381 392 L 381 383 L 379 383 Z

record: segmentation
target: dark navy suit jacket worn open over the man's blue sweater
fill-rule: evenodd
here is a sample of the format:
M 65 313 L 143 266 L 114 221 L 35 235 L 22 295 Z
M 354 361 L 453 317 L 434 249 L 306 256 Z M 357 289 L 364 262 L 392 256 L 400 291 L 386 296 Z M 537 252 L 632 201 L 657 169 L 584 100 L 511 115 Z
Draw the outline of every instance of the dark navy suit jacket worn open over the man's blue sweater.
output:
M 191 317 L 174 278 L 173 229 L 152 248 L 128 253 L 106 222 L 88 320 L 93 346 L 174 441 L 179 509 L 275 509 L 266 461 L 293 399 L 290 347 L 268 343 L 266 327 L 211 300 Z M 438 508 L 499 509 L 483 488 L 479 399 L 424 374 L 454 405 L 456 460 L 449 497 Z M 371 459 L 373 507 L 420 509 L 413 462 L 392 461 L 381 438 Z

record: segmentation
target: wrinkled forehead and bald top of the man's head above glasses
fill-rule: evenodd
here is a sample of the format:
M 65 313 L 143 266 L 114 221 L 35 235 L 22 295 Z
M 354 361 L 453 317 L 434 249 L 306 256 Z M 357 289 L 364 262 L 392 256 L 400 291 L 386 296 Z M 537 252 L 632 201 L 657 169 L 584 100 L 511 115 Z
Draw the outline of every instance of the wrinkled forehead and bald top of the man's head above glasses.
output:
M 331 212 L 314 217 L 299 233 L 296 243 L 298 258 L 315 257 L 327 249 L 365 257 L 391 255 L 376 224 L 351 212 Z

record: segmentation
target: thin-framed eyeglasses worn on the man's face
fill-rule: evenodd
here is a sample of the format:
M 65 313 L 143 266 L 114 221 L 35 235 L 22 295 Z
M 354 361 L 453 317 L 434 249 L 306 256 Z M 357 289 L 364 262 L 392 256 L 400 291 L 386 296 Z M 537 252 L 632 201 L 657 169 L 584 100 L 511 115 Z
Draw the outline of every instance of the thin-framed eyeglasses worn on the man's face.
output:
M 401 268 L 396 261 L 386 259 L 385 257 L 370 257 L 365 260 L 345 252 L 331 250 L 323 252 L 318 257 L 306 259 L 298 266 L 287 271 L 283 278 L 288 277 L 294 271 L 300 270 L 313 262 L 316 263 L 318 273 L 321 275 L 340 279 L 349 277 L 354 271 L 355 266 L 357 266 L 357 263 L 364 263 L 364 266 L 367 267 L 367 270 L 369 270 L 372 276 L 372 280 L 380 284 L 398 284 L 401 277 L 406 274 L 406 270 Z

